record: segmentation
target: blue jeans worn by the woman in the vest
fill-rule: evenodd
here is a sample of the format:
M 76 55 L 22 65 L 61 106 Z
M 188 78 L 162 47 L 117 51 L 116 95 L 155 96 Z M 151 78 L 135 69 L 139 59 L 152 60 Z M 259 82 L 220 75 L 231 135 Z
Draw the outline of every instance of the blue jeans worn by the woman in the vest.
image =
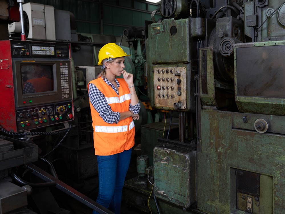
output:
M 99 193 L 96 202 L 119 214 L 122 190 L 131 160 L 132 149 L 124 152 L 97 156 L 99 173 Z M 93 214 L 97 212 L 93 211 Z

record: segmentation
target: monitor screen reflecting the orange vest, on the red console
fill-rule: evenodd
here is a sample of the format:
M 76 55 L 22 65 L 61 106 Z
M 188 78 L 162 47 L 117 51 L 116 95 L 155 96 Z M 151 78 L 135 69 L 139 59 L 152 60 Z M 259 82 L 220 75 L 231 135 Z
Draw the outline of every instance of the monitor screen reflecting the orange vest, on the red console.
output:
M 52 65 L 20 64 L 23 94 L 54 90 Z

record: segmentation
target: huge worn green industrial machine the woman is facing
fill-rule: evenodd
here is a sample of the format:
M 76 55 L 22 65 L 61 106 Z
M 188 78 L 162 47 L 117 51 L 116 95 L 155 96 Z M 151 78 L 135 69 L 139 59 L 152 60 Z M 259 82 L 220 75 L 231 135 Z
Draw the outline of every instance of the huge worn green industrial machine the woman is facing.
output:
M 179 132 L 141 142 L 153 163 L 125 182 L 126 202 L 163 214 L 284 213 L 284 1 L 162 0 L 160 13 L 147 29 L 148 96 L 178 112 Z

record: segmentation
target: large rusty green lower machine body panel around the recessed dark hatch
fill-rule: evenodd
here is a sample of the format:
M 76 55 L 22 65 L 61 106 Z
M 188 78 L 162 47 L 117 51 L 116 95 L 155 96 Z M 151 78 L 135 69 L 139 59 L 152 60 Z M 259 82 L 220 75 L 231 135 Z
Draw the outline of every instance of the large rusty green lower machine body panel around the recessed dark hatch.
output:
M 202 153 L 197 153 L 197 180 L 207 177 L 207 182 L 197 182 L 197 192 L 203 195 L 197 197 L 197 208 L 209 213 L 234 211 L 236 201 L 231 196 L 235 193 L 232 193 L 230 173 L 233 167 L 268 175 L 269 181 L 260 183 L 260 193 L 267 194 L 263 202 L 260 198 L 260 214 L 282 213 L 285 209 L 284 135 L 232 129 L 231 115 L 231 112 L 201 110 Z M 272 192 L 268 185 L 270 177 Z

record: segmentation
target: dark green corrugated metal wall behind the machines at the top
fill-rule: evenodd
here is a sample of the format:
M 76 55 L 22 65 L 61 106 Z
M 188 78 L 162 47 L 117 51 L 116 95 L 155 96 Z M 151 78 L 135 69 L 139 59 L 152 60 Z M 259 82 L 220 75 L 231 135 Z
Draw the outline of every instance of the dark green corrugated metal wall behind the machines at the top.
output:
M 144 28 L 144 20 L 150 21 L 151 12 L 159 7 L 142 0 L 25 0 L 27 2 L 52 5 L 55 9 L 72 12 L 78 33 L 114 36 L 122 35 L 127 27 Z M 159 17 L 156 15 L 156 20 Z

